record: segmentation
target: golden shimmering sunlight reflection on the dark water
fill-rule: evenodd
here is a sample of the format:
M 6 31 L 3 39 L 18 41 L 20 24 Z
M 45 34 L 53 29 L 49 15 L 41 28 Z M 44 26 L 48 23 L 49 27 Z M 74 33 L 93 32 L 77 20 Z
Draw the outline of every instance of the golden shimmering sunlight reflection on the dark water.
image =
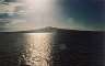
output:
M 51 33 L 26 33 L 25 55 L 26 65 L 49 66 L 51 58 Z

